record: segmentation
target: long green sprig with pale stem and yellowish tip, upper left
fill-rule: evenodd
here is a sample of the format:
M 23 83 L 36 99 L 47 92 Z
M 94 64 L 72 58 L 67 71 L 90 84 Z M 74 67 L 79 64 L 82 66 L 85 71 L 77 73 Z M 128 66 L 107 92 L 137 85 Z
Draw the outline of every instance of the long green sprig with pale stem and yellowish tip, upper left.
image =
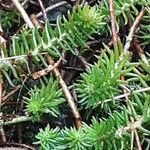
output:
M 75 49 L 86 46 L 86 40 L 98 31 L 100 25 L 104 24 L 102 18 L 96 6 L 90 7 L 85 4 L 68 13 L 67 19 L 58 18 L 54 29 L 48 21 L 42 33 L 37 27 L 23 29 L 19 35 L 13 37 L 10 53 L 5 48 L 1 51 L 0 70 L 13 85 L 8 70 L 15 78 L 18 78 L 21 72 L 28 72 L 31 75 L 32 69 L 29 67 L 28 56 L 30 59 L 32 56 L 35 68 L 41 70 L 48 67 L 41 53 L 46 52 L 54 58 L 61 57 L 62 50 L 75 53 Z

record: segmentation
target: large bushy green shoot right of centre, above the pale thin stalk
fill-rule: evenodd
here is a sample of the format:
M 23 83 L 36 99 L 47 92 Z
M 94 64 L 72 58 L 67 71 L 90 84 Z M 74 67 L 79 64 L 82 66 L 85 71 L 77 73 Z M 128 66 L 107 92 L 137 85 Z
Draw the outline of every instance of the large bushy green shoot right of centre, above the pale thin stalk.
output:
M 98 63 L 81 74 L 81 79 L 76 84 L 79 101 L 86 108 L 96 107 L 105 99 L 119 94 L 119 85 L 123 84 L 120 77 L 133 69 L 125 66 L 129 59 L 128 52 L 107 50 L 108 52 L 102 50 Z

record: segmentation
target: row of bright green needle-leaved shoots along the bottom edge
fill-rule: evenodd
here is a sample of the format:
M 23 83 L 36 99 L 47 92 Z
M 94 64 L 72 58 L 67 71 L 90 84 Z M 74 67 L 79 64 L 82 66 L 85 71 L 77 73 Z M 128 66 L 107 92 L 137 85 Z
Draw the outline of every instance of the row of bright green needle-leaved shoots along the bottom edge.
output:
M 120 147 L 125 149 L 130 138 L 128 133 L 124 133 L 120 138 L 118 130 L 126 126 L 127 122 L 127 112 L 121 111 L 114 112 L 108 119 L 93 119 L 91 125 L 83 123 L 79 129 L 50 129 L 48 125 L 44 130 L 40 129 L 35 144 L 40 144 L 41 150 L 113 150 Z

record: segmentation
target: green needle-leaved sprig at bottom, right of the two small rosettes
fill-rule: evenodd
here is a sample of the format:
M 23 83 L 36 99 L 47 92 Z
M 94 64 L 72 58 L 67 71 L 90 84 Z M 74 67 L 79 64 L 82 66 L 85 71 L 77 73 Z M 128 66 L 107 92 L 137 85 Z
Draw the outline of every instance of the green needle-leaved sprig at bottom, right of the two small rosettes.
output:
M 89 132 L 89 137 L 93 140 L 94 149 L 127 149 L 129 144 L 128 133 L 124 133 L 122 137 L 118 135 L 118 130 L 126 126 L 128 123 L 128 114 L 125 111 L 114 112 L 108 119 L 95 118 L 92 120 L 92 130 Z M 127 139 L 125 139 L 127 138 Z M 126 145 L 127 144 L 127 145 Z

